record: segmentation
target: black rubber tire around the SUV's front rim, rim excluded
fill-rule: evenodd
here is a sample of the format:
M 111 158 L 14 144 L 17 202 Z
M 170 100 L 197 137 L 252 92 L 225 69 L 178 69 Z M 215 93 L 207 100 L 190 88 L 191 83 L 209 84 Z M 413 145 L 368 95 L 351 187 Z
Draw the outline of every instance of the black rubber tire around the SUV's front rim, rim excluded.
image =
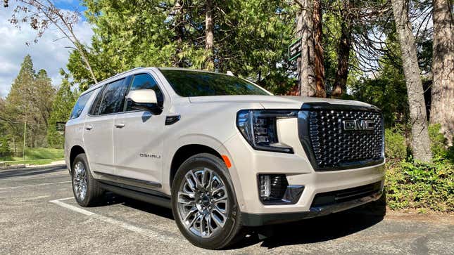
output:
M 178 207 L 178 192 L 182 187 L 182 181 L 185 180 L 185 175 L 194 169 L 210 169 L 219 176 L 222 180 L 225 190 L 227 190 L 227 209 L 225 211 L 227 218 L 225 224 L 216 233 L 210 237 L 201 237 L 189 230 L 182 220 L 181 213 Z M 212 200 L 213 201 L 213 200 Z M 175 178 L 172 181 L 172 213 L 177 223 L 177 226 L 184 237 L 197 247 L 204 249 L 223 249 L 235 242 L 241 240 L 241 211 L 239 210 L 237 197 L 234 192 L 232 180 L 229 176 L 227 167 L 222 159 L 210 155 L 208 153 L 201 153 L 189 157 L 177 170 Z M 195 218 L 195 216 L 194 216 Z

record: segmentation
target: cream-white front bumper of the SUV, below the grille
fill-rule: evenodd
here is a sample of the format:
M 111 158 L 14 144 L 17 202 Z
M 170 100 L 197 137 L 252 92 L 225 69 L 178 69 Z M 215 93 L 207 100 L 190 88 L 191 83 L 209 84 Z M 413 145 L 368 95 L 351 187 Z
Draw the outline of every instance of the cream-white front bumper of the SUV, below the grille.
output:
M 377 194 L 367 194 L 346 203 L 313 207 L 317 194 L 370 185 L 384 180 L 384 163 L 355 169 L 315 171 L 298 138 L 297 119 L 282 119 L 278 124 L 279 140 L 294 148 L 294 154 L 253 150 L 237 134 L 217 150 L 232 162 L 229 174 L 234 183 L 244 225 L 263 225 L 301 218 L 322 216 L 377 200 Z M 294 204 L 263 204 L 258 191 L 260 174 L 285 174 L 288 185 L 304 186 Z

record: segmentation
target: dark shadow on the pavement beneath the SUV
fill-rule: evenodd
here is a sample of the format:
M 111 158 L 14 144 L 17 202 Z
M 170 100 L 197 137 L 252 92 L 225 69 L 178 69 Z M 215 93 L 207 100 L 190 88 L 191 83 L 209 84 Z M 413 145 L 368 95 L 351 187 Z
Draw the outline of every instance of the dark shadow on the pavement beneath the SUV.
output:
M 173 219 L 172 210 L 153 204 L 133 200 L 111 192 L 106 193 L 106 204 L 123 204 L 149 214 Z M 272 249 L 293 244 L 310 244 L 334 240 L 358 233 L 383 220 L 386 203 L 383 196 L 376 202 L 327 216 L 308 218 L 303 221 L 249 228 L 244 239 L 227 249 L 240 249 L 254 244 Z M 262 238 L 259 238 L 259 234 Z

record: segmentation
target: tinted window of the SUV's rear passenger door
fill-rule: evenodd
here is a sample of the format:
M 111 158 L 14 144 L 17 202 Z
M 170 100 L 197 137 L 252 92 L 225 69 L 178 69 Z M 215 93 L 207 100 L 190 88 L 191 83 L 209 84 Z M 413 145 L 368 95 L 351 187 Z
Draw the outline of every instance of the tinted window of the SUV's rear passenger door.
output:
M 121 112 L 125 102 L 127 86 L 125 79 L 107 84 L 99 105 L 99 115 Z

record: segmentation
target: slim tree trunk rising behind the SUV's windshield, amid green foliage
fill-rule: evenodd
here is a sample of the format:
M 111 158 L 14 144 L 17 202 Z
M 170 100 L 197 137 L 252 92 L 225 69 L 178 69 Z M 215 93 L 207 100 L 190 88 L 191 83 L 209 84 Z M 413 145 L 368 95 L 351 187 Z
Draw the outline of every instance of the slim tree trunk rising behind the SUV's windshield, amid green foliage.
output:
M 214 24 L 213 24 L 213 0 L 206 0 L 206 11 L 205 11 L 205 51 L 207 55 L 206 70 L 215 70 L 214 61 Z

